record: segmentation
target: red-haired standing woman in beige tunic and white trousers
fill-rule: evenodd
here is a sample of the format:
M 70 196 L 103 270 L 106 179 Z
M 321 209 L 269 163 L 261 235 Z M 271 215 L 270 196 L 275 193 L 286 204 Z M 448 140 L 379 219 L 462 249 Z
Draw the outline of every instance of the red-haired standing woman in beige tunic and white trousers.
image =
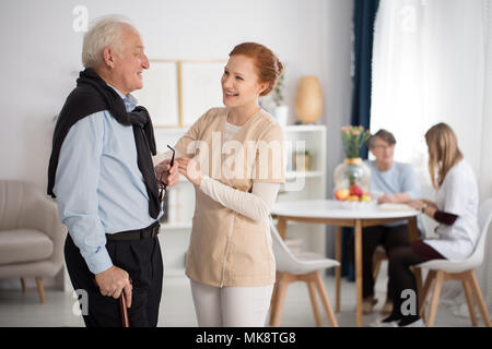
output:
M 221 80 L 225 107 L 176 144 L 196 192 L 186 275 L 199 326 L 265 325 L 276 275 L 268 216 L 284 168 L 282 129 L 258 98 L 282 69 L 267 47 L 236 46 Z

